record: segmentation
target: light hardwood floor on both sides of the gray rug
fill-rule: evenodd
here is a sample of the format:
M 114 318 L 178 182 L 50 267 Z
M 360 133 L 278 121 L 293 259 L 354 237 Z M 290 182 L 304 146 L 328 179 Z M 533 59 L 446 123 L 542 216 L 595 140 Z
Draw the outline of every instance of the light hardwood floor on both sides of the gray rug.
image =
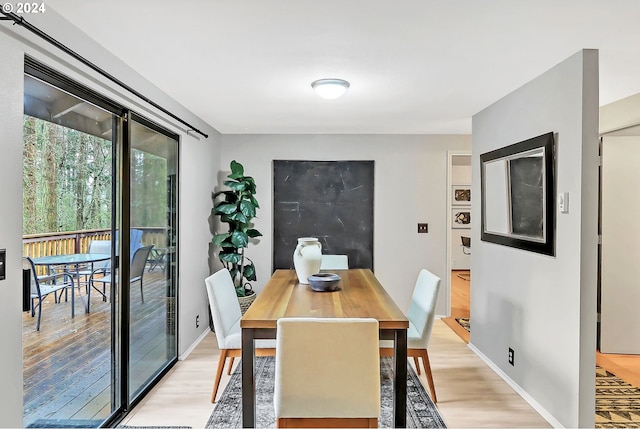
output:
M 210 333 L 123 424 L 204 427 L 214 408 L 209 400 L 218 357 Z M 449 428 L 551 427 L 441 320 L 434 324 L 429 358 L 438 409 Z M 420 378 L 427 386 L 424 372 Z M 221 391 L 228 379 L 225 371 Z

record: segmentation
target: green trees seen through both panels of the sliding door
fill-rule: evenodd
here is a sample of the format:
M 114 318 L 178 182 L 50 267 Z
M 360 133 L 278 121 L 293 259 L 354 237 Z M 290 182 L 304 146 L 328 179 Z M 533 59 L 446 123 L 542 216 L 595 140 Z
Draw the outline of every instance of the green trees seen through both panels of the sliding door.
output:
M 112 142 L 24 115 L 23 233 L 108 229 Z M 167 160 L 138 149 L 131 157 L 131 223 L 167 222 Z

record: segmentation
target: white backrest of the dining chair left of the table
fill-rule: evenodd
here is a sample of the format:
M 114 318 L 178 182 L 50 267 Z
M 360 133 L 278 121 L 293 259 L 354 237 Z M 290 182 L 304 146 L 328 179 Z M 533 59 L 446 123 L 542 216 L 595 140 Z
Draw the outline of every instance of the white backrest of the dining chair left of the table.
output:
M 233 348 L 228 344 L 227 336 L 242 317 L 242 311 L 231 273 L 223 268 L 207 277 L 205 285 L 218 347 L 220 349 Z

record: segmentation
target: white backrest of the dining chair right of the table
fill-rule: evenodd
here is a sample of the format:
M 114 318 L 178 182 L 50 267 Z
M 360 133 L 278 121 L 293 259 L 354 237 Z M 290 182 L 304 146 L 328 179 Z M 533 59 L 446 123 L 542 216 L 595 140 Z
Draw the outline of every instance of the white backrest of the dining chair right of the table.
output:
M 431 336 L 439 289 L 440 278 L 430 271 L 421 270 L 413 289 L 407 319 L 420 334 L 424 348 L 427 348 Z

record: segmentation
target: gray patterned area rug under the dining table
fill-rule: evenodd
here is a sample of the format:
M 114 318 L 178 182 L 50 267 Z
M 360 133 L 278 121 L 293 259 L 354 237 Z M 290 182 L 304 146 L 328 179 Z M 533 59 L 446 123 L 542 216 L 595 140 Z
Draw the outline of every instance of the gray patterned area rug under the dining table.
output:
M 256 427 L 275 427 L 273 411 L 273 388 L 275 374 L 274 357 L 257 357 L 256 377 Z M 380 359 L 381 408 L 379 427 L 393 427 L 393 361 Z M 242 427 L 242 375 L 240 366 L 234 371 L 229 384 L 220 396 L 213 414 L 207 422 L 209 428 Z M 424 390 L 420 379 L 407 363 L 407 427 L 446 428 L 438 409 Z

